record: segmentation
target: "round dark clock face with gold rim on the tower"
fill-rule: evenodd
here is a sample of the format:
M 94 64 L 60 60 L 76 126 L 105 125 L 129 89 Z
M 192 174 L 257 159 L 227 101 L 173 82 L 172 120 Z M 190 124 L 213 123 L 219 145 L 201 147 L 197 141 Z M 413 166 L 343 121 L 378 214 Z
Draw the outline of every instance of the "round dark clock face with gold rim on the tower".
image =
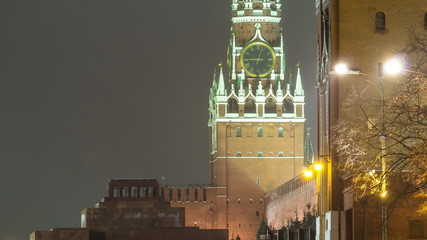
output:
M 240 55 L 240 65 L 246 75 L 265 77 L 276 65 L 274 50 L 266 43 L 254 42 L 246 46 Z

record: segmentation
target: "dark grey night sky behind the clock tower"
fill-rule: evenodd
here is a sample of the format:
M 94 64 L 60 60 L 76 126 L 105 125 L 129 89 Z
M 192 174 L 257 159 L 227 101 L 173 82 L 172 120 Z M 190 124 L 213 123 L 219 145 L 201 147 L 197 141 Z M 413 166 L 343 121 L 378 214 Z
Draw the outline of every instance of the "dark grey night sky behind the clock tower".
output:
M 208 182 L 208 92 L 230 3 L 0 3 L 0 240 L 79 226 L 110 178 Z M 282 9 L 314 128 L 314 3 Z

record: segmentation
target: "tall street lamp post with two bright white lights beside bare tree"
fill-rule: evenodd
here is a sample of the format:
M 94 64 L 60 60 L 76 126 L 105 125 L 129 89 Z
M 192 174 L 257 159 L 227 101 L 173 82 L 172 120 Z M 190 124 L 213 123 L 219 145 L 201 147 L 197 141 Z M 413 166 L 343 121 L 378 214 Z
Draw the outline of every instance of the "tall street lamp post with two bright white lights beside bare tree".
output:
M 385 64 L 384 69 L 389 74 L 396 74 L 402 71 L 401 65 L 398 64 L 396 61 L 391 60 Z M 387 162 L 386 162 L 386 129 L 385 129 L 385 99 L 384 99 L 384 86 L 381 83 L 381 81 L 374 76 L 371 76 L 366 73 L 362 73 L 360 71 L 352 71 L 348 70 L 347 66 L 345 64 L 338 64 L 335 67 L 335 71 L 331 72 L 331 74 L 338 74 L 338 75 L 363 75 L 368 77 L 368 79 L 365 79 L 366 82 L 375 85 L 377 87 L 380 96 L 381 96 L 381 126 L 380 126 L 380 134 L 379 134 L 379 141 L 381 143 L 381 198 L 382 198 L 382 204 L 381 204 L 381 239 L 387 240 L 387 220 L 388 220 L 388 214 L 387 214 L 387 203 L 386 203 L 386 195 L 387 195 Z M 370 80 L 373 79 L 374 81 Z

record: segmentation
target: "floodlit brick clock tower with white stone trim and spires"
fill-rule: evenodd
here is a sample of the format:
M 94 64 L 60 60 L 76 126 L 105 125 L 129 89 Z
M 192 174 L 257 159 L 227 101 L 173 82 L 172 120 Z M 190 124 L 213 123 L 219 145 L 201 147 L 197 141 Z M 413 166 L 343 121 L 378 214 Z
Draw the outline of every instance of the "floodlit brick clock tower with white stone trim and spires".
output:
M 304 167 L 304 90 L 299 66 L 285 78 L 281 5 L 232 0 L 227 66 L 210 89 L 211 185 L 230 238 L 255 239 L 265 194 Z

